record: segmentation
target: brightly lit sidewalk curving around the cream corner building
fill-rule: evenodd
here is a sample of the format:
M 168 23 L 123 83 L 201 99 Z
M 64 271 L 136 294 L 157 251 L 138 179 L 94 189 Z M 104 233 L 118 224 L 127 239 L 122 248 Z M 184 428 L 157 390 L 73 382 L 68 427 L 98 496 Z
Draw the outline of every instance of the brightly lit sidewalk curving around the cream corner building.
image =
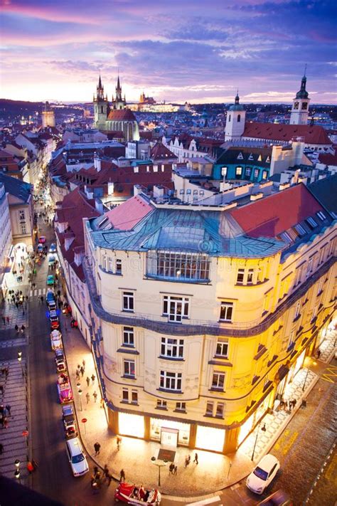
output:
M 75 406 L 77 411 L 77 420 L 79 422 L 80 436 L 83 444 L 92 457 L 92 459 L 101 467 L 107 464 L 110 473 L 114 478 L 119 479 L 119 472 L 124 469 L 126 480 L 132 483 L 144 483 L 147 487 L 158 487 L 158 468 L 151 463 L 151 457 L 156 456 L 160 444 L 155 442 L 146 442 L 140 439 L 122 437 L 122 445 L 117 450 L 116 436 L 107 426 L 107 416 L 105 409 L 100 407 L 100 389 L 97 384 L 97 374 L 90 349 L 87 348 L 80 331 L 69 329 L 69 320 L 66 320 L 68 327 L 64 331 L 63 324 L 63 342 L 68 362 L 68 371 L 70 374 Z M 333 339 L 333 337 L 331 337 Z M 82 396 L 77 393 L 77 380 L 75 370 L 77 364 L 82 365 L 85 360 L 85 374 L 80 379 L 80 389 Z M 87 386 L 86 378 L 95 374 L 95 382 Z M 314 387 L 319 376 L 310 369 L 302 369 L 296 374 L 294 381 L 287 387 L 284 399 L 296 399 L 296 407 L 291 413 L 278 411 L 268 414 L 264 417 L 263 423 L 266 423 L 266 432 L 260 432 L 257 438 L 255 448 L 255 463 L 260 460 L 262 455 L 272 448 L 277 438 L 282 434 L 284 428 L 294 416 L 294 413 L 301 406 L 301 399 L 306 399 L 309 391 Z M 304 390 L 303 390 L 304 386 Z M 92 394 L 97 392 L 97 402 L 95 403 Z M 87 404 L 86 394 L 89 393 L 90 401 Z M 81 409 L 82 403 L 82 409 Z M 82 418 L 86 418 L 86 423 L 81 423 Z M 168 468 L 161 468 L 161 487 L 160 490 L 166 495 L 171 496 L 173 500 L 191 502 L 191 500 L 203 500 L 207 494 L 216 495 L 216 490 L 233 485 L 245 478 L 252 470 L 252 448 L 255 444 L 257 428 L 246 439 L 239 450 L 233 455 L 219 455 L 208 451 L 197 450 L 199 464 L 192 462 L 194 452 L 188 448 L 176 448 L 175 463 L 178 466 L 176 476 L 169 474 Z M 100 443 L 100 454 L 95 456 L 94 444 Z M 186 455 L 191 455 L 191 464 L 188 468 L 184 467 Z M 231 464 L 231 465 L 230 465 Z M 198 497 L 196 497 L 198 496 Z

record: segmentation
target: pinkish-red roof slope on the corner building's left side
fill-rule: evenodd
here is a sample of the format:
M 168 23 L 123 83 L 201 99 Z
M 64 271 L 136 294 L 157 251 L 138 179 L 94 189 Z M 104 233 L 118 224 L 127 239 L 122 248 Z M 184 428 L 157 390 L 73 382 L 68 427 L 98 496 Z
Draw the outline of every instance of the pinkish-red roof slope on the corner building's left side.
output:
M 109 218 L 109 222 L 112 223 L 114 228 L 132 230 L 153 209 L 141 196 L 137 195 L 108 211 L 105 216 Z

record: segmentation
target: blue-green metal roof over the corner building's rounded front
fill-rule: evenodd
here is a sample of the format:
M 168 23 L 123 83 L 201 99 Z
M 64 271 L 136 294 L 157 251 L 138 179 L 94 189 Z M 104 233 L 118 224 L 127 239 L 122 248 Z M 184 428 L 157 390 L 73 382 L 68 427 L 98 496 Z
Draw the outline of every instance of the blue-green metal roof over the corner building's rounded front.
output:
M 285 243 L 274 238 L 250 238 L 226 211 L 154 208 L 130 231 L 97 231 L 102 217 L 90 222 L 96 246 L 113 250 L 174 250 L 211 256 L 261 258 Z M 95 230 L 96 229 L 96 230 Z

